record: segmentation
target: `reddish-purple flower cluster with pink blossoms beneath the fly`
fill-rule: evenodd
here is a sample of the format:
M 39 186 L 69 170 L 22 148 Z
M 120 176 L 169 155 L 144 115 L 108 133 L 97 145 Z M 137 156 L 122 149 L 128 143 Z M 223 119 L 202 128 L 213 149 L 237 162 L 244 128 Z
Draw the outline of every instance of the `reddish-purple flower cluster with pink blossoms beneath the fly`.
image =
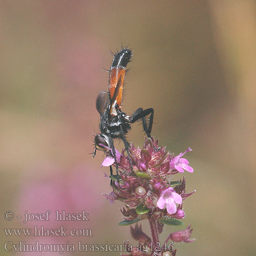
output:
M 146 255 L 153 255 L 157 250 L 160 250 L 162 255 L 174 256 L 176 254 L 176 250 L 159 249 L 156 248 L 156 244 L 159 242 L 158 234 L 161 232 L 163 224 L 183 224 L 180 221 L 185 218 L 182 201 L 195 193 L 195 190 L 190 194 L 185 193 L 184 177 L 182 181 L 173 181 L 173 176 L 178 172 L 184 172 L 183 169 L 193 173 L 194 170 L 188 165 L 189 162 L 185 158 L 181 158 L 188 151 L 191 151 L 190 148 L 175 157 L 165 151 L 165 147 L 159 147 L 158 140 L 147 138 L 142 149 L 131 144 L 130 156 L 133 164 L 131 169 L 129 159 L 124 155 L 124 151 L 120 154 L 115 150 L 120 174 L 119 177 L 111 177 L 114 180 L 112 182 L 114 194 L 112 192 L 105 197 L 125 203 L 125 207 L 121 210 L 124 221 L 119 223 L 120 225 L 130 225 L 143 219 L 149 220 L 152 241 L 142 231 L 141 226 L 136 225 L 135 228 L 131 228 L 132 237 L 141 246 L 147 246 L 150 249 Z M 111 164 L 115 165 L 115 161 L 110 151 L 102 165 L 109 166 Z M 179 232 L 170 234 L 166 242 L 169 239 L 174 242 L 191 241 L 189 240 L 190 226 Z M 132 251 L 129 251 L 129 255 L 145 255 L 144 249 L 141 248 L 134 247 Z

